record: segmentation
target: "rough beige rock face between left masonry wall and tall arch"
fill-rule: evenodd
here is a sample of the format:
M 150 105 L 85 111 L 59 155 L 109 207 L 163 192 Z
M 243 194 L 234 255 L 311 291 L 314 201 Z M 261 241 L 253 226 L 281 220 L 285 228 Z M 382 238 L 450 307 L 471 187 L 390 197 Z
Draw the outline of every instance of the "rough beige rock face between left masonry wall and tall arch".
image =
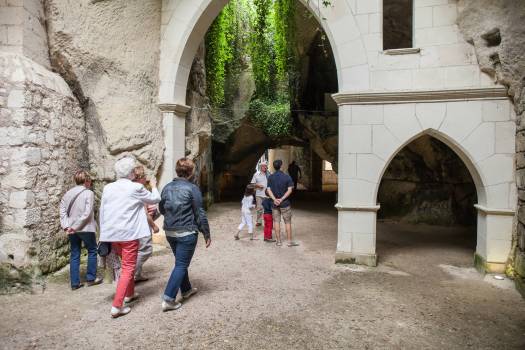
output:
M 113 163 L 124 153 L 152 173 L 162 163 L 160 14 L 157 0 L 46 2 L 51 65 L 83 106 L 98 180 L 113 179 Z

